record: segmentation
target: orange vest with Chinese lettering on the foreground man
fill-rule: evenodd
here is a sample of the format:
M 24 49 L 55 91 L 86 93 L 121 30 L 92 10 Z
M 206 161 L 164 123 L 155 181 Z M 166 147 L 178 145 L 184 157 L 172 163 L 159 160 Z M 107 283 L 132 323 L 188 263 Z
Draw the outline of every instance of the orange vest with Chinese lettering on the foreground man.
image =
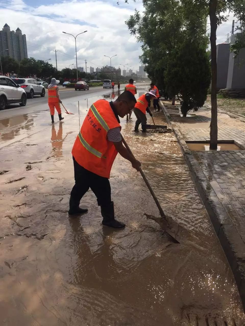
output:
M 94 102 L 72 149 L 72 155 L 78 164 L 108 179 L 118 151 L 106 136 L 107 131 L 115 127 L 121 128 L 109 102 L 106 100 Z

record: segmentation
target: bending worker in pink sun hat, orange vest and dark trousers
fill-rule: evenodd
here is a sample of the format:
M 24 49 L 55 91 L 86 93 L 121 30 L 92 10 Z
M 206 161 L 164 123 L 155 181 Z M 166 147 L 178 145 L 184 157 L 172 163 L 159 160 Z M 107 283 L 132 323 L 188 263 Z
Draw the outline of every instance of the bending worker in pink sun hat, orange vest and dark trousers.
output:
M 142 132 L 146 132 L 146 112 L 152 117 L 152 112 L 149 109 L 151 106 L 151 98 L 156 98 L 155 92 L 151 90 L 150 92 L 139 96 L 137 103 L 134 106 L 134 114 L 136 115 L 136 123 L 134 131 L 139 131 L 139 125 L 141 124 Z

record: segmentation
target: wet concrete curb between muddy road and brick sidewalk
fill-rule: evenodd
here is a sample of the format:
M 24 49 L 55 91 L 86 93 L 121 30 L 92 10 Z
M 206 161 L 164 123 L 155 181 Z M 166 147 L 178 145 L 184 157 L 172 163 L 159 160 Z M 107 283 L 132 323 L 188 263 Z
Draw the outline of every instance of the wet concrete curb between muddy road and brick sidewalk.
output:
M 183 135 L 173 123 L 171 116 L 161 100 L 160 104 L 180 145 L 193 181 L 197 187 L 199 195 L 204 203 L 214 230 L 220 240 L 221 246 L 234 274 L 243 309 L 245 311 L 245 244 L 237 232 L 234 223 L 223 208 L 214 189 L 207 180 L 204 172 L 201 170 L 197 160 L 189 150 Z

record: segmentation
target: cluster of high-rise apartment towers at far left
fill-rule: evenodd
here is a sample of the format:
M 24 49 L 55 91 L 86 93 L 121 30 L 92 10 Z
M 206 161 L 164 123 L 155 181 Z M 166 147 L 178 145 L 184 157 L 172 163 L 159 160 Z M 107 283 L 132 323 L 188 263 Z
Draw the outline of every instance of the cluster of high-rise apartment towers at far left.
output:
M 7 23 L 3 26 L 0 31 L 0 52 L 2 56 L 8 55 L 18 61 L 27 58 L 26 37 L 19 27 L 14 32 L 10 31 Z

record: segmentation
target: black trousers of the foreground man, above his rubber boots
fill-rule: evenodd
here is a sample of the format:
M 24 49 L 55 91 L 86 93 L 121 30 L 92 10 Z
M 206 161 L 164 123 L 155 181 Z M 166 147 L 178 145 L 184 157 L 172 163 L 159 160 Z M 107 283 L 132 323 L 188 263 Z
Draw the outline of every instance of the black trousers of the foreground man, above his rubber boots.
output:
M 101 177 L 89 170 L 84 169 L 76 162 L 74 163 L 75 185 L 71 191 L 71 197 L 74 200 L 80 201 L 84 194 L 91 188 L 92 192 L 97 197 L 99 206 L 110 205 L 111 203 L 111 186 L 109 179 Z

